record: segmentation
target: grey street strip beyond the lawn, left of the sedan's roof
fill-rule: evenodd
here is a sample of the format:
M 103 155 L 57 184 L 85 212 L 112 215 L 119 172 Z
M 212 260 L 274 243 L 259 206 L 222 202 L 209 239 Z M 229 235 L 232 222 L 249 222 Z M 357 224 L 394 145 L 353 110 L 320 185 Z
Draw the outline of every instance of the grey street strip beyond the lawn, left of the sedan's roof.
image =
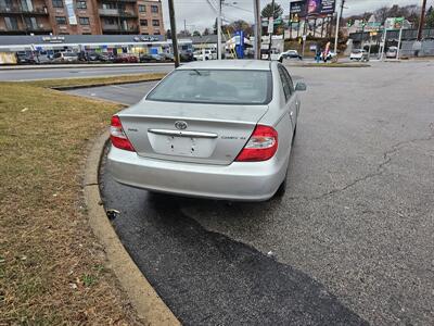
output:
M 0 82 L 167 73 L 173 65 L 0 70 Z

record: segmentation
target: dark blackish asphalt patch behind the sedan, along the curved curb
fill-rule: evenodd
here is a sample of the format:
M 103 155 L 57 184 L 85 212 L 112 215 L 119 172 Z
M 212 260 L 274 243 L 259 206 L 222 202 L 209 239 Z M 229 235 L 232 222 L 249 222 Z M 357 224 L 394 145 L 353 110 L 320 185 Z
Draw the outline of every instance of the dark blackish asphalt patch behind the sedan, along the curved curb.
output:
M 206 230 L 181 209 L 213 214 L 225 205 L 242 216 L 248 208 L 256 223 L 268 212 L 263 204 L 152 195 L 117 184 L 104 166 L 100 187 L 105 209 L 120 212 L 112 223 L 125 248 L 181 323 L 368 325 L 306 274 Z

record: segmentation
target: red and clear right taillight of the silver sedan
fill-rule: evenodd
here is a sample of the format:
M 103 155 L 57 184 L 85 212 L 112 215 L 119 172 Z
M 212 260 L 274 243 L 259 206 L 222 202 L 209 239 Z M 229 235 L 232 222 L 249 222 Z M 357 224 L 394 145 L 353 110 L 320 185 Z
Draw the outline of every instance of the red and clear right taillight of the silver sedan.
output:
M 257 125 L 237 162 L 259 162 L 271 159 L 278 150 L 278 131 L 272 127 Z

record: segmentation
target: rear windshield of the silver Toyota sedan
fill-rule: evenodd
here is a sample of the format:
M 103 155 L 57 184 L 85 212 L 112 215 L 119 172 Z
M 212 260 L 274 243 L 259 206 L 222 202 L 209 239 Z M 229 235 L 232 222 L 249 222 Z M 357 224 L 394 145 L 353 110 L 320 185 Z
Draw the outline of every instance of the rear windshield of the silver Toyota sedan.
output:
M 153 101 L 267 104 L 271 100 L 271 73 L 241 70 L 179 70 L 146 98 Z

